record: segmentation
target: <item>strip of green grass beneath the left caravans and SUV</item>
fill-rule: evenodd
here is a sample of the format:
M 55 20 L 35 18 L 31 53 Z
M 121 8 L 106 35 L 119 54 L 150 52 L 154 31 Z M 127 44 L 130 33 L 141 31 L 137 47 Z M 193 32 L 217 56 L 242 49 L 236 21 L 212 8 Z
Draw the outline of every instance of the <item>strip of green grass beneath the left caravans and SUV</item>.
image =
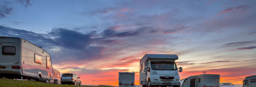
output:
M 111 86 L 63 85 L 63 84 L 44 83 L 44 82 L 37 82 L 37 81 L 0 79 L 0 87 L 111 87 Z

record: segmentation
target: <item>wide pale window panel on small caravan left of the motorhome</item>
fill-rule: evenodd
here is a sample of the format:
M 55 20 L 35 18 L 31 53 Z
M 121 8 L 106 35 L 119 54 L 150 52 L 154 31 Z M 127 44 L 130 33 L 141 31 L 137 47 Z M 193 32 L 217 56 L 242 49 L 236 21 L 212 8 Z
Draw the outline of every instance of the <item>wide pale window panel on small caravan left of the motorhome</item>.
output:
M 133 82 L 133 74 L 120 74 L 119 75 L 119 81 L 123 82 Z

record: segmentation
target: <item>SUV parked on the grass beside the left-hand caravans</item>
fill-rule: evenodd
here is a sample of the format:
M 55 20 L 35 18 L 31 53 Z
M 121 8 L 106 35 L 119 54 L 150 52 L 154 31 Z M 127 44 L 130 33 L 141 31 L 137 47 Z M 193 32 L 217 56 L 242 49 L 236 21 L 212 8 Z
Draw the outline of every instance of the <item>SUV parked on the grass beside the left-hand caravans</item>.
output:
M 61 75 L 60 82 L 61 82 L 61 84 L 82 85 L 82 82 L 79 78 L 80 77 L 78 77 L 76 74 L 66 73 L 66 74 Z

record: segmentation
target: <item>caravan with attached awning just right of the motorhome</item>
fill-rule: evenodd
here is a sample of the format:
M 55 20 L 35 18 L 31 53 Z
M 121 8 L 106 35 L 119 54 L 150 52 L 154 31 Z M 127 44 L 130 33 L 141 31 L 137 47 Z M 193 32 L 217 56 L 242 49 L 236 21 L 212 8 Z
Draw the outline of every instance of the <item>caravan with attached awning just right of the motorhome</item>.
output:
M 180 87 L 219 87 L 220 75 L 202 74 L 180 80 Z

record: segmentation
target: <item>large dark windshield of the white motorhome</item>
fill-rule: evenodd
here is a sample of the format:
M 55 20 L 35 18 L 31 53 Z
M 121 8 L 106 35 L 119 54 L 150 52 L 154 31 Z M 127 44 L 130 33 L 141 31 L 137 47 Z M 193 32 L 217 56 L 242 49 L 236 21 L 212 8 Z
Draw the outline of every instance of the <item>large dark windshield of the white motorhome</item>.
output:
M 153 70 L 177 70 L 175 62 L 172 61 L 151 61 Z

